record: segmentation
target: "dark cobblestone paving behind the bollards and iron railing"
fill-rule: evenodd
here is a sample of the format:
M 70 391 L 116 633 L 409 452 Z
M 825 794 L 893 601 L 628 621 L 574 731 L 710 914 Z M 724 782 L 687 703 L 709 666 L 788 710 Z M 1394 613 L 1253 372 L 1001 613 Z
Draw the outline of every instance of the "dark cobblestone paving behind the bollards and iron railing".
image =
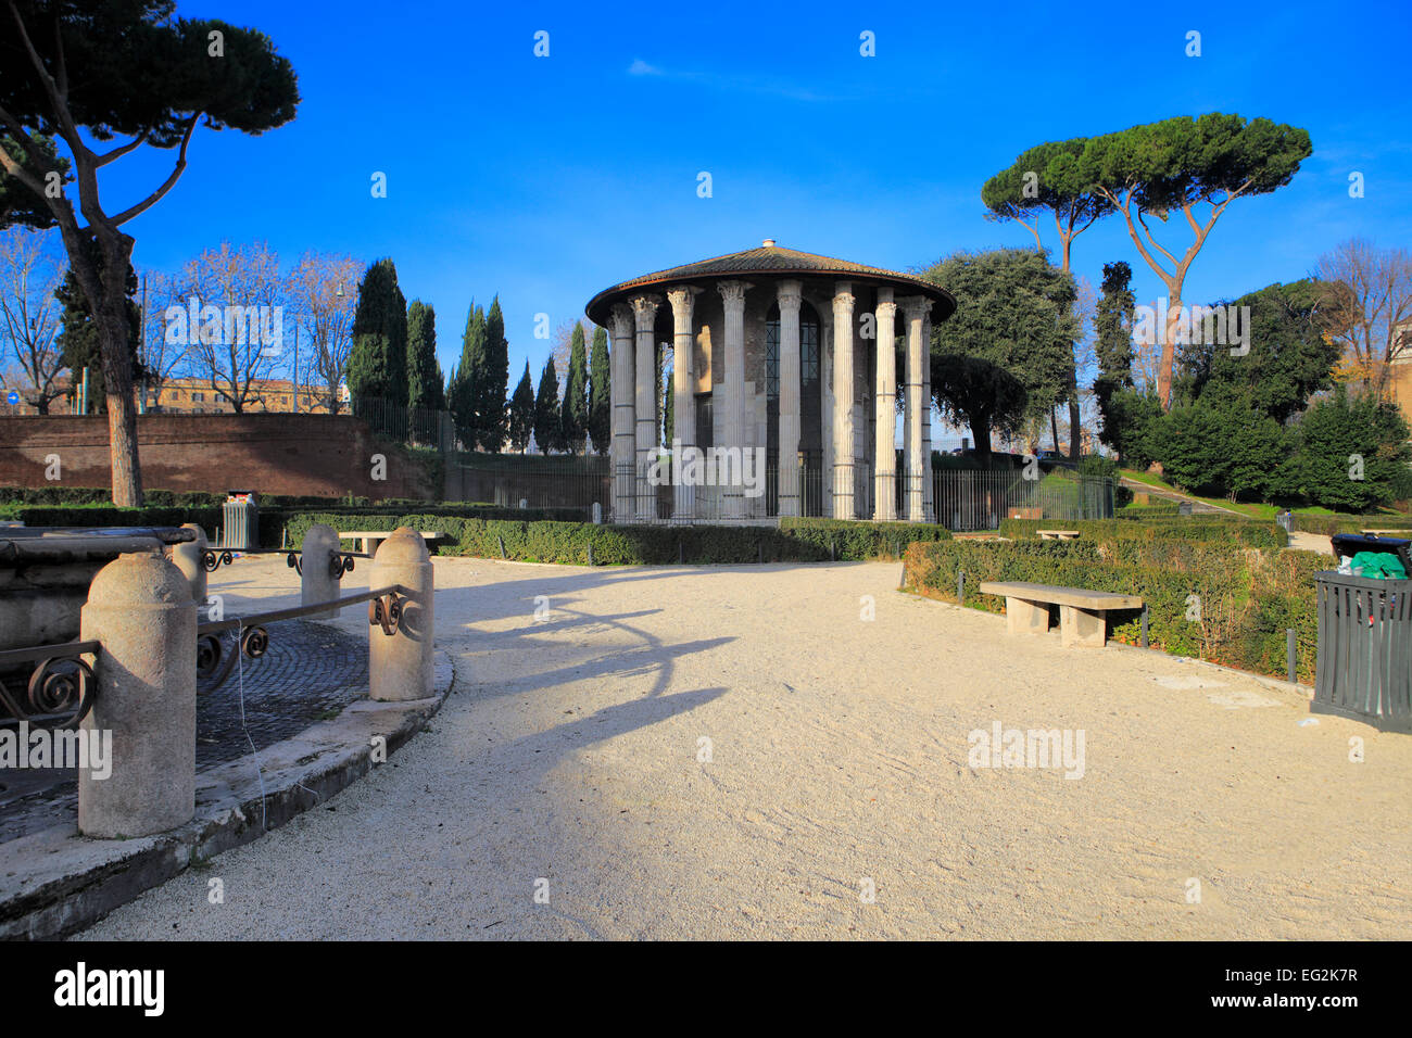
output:
M 196 771 L 225 764 L 336 716 L 367 695 L 367 640 L 329 624 L 271 624 L 270 648 L 241 660 L 213 689 L 196 689 Z M 234 645 L 226 637 L 222 648 Z M 72 768 L 0 771 L 0 842 L 78 816 Z

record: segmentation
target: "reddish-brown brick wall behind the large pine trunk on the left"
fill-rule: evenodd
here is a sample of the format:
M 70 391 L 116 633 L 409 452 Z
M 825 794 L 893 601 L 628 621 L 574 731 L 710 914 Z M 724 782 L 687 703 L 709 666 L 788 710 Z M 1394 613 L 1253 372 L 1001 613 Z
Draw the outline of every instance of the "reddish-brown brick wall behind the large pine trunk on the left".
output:
M 400 445 L 345 415 L 138 415 L 137 441 L 143 486 L 154 490 L 374 499 L 441 493 Z M 371 479 L 376 453 L 387 458 L 383 482 Z M 62 486 L 112 486 L 106 417 L 0 415 L 0 486 L 54 486 L 44 477 L 47 455 L 59 456 Z

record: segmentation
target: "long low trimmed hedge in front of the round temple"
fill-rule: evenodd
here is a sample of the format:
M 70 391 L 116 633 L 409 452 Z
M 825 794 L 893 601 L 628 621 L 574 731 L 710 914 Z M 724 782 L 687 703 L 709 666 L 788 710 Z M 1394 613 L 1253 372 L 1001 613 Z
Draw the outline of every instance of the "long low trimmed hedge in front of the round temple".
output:
M 438 544 L 442 555 L 507 558 L 520 562 L 589 562 L 594 565 L 692 565 L 731 562 L 822 562 L 830 558 L 863 561 L 897 558 L 897 551 L 918 541 L 943 541 L 945 527 L 909 523 L 846 523 L 836 520 L 785 518 L 774 527 L 723 525 L 594 525 L 554 520 L 501 520 L 465 515 L 411 514 L 378 520 L 385 528 L 411 527 L 438 531 L 449 539 Z M 335 528 L 352 525 L 356 517 L 329 513 L 299 513 L 289 517 L 291 547 L 304 544 L 315 523 Z M 346 545 L 347 547 L 347 545 Z

